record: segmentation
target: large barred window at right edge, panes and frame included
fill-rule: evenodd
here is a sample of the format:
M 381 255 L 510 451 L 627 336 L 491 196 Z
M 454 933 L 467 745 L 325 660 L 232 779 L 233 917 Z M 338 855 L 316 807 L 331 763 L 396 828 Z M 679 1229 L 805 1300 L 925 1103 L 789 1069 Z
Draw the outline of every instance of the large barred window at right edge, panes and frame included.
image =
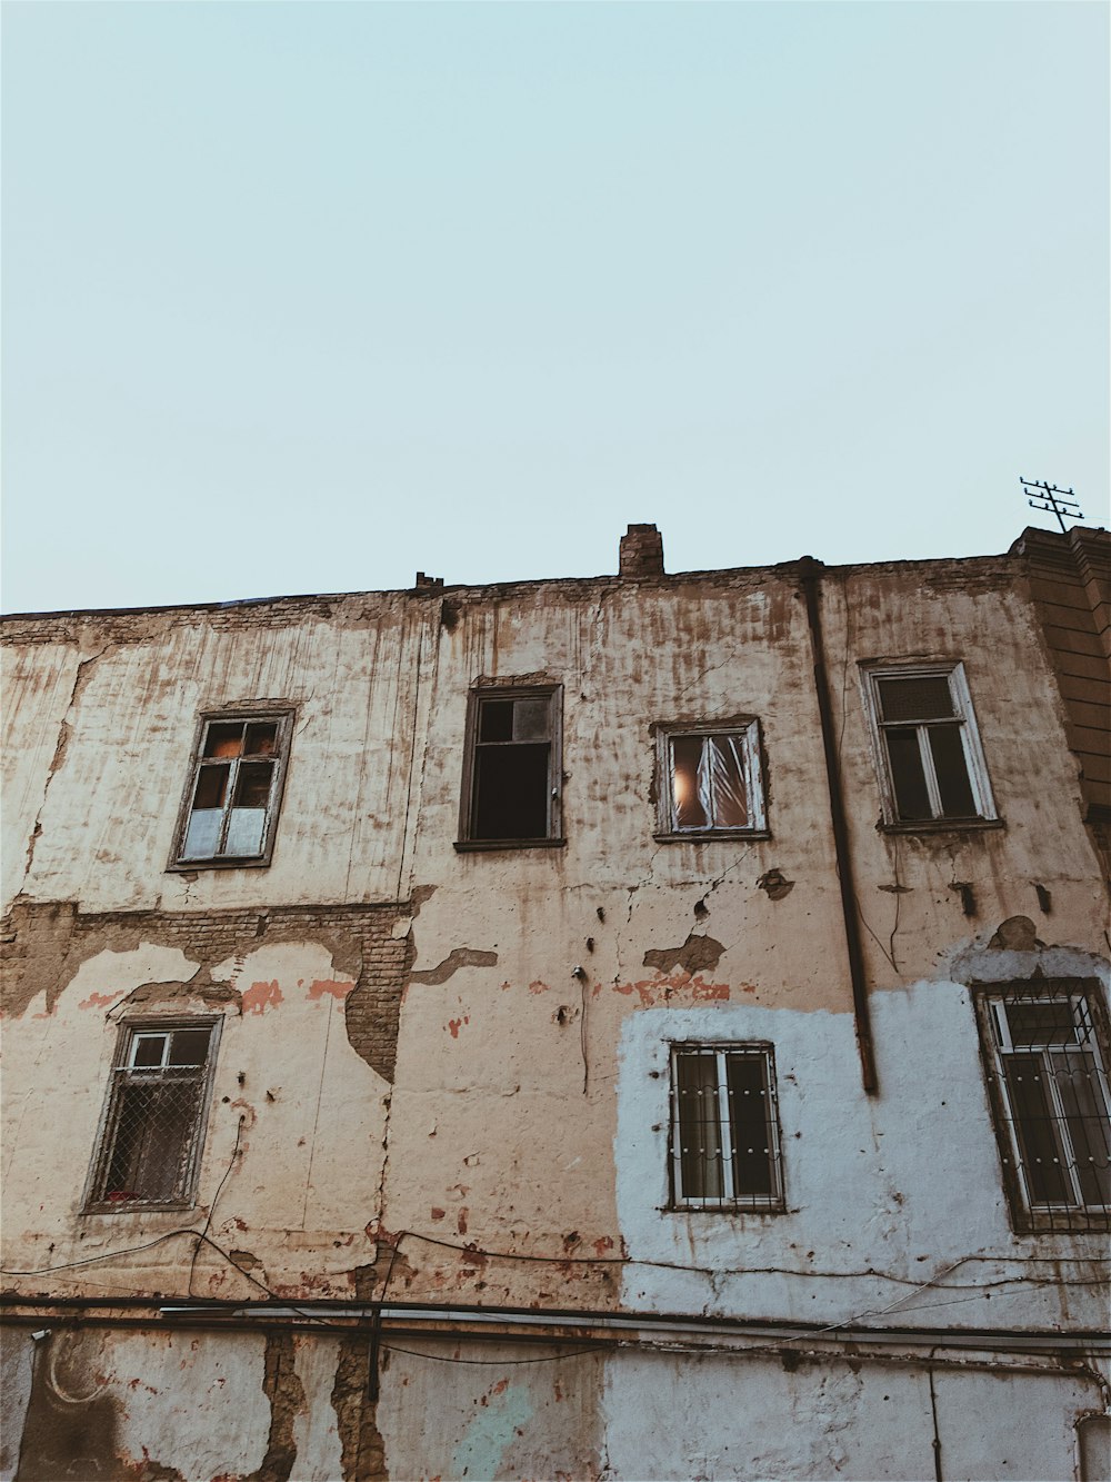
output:
M 1098 984 L 992 988 L 978 996 L 978 1012 L 1016 1226 L 1107 1229 L 1111 1101 Z

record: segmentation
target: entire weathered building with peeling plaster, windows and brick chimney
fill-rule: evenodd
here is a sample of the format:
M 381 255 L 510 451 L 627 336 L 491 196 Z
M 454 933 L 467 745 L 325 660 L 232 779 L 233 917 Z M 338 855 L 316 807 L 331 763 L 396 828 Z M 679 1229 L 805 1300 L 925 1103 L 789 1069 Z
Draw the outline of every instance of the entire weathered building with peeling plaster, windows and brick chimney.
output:
M 1110 602 L 10 618 L 4 1482 L 1107 1478 Z

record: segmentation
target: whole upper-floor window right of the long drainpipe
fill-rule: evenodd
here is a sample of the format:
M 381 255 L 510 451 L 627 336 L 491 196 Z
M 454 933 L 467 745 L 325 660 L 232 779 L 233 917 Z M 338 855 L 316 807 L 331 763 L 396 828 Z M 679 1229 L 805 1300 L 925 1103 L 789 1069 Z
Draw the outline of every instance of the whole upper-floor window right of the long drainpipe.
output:
M 868 671 L 889 825 L 995 817 L 961 664 Z

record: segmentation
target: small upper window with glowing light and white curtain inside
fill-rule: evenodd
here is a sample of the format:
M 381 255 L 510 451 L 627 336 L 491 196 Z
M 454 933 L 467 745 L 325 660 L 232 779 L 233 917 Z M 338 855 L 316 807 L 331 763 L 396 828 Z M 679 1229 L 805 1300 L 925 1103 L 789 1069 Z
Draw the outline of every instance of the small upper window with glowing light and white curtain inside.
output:
M 659 729 L 661 836 L 764 831 L 760 728 Z

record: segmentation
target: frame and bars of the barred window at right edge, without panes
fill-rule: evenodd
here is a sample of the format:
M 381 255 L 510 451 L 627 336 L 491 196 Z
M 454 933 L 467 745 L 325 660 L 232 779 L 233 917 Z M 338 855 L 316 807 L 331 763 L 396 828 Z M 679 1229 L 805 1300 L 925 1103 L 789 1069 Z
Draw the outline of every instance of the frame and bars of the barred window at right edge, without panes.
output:
M 1077 1039 L 1070 1045 L 1038 1043 L 1038 1040 L 1016 1042 L 1012 1037 L 1007 1009 L 1022 1006 L 1061 1006 L 1068 1003 Z M 1108 1085 L 1108 1037 L 1098 988 L 1075 980 L 1031 984 L 997 984 L 978 994 L 981 1023 L 981 1045 L 992 1089 L 992 1114 L 1000 1144 L 1000 1156 L 1006 1175 L 1013 1214 L 1021 1229 L 1107 1229 L 1111 1223 L 1111 1206 L 1089 1203 L 1077 1177 L 1077 1150 L 1068 1125 L 1068 1114 L 1058 1083 L 1058 1063 L 1065 1061 L 1070 1048 L 1083 1051 L 1095 1064 L 1096 1100 L 1102 1101 L 1104 1125 L 1111 1134 L 1111 1085 Z M 1030 1171 L 1019 1140 L 1019 1113 L 1012 1103 L 1006 1074 L 1009 1055 L 1034 1057 L 1040 1060 L 1040 1077 L 1050 1110 L 1050 1132 L 1058 1152 L 1056 1163 L 1068 1194 L 1064 1200 L 1040 1200 L 1034 1197 Z

